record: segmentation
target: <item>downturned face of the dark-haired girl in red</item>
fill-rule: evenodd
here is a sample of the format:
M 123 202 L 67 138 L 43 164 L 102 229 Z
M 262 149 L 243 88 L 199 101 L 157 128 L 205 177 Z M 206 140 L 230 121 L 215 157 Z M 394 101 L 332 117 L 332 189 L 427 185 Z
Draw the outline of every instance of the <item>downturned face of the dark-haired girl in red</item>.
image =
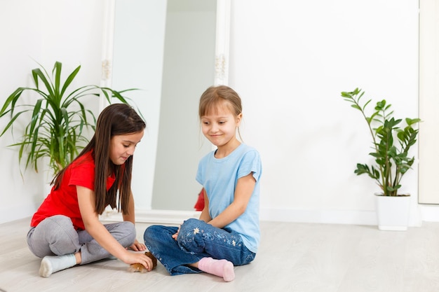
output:
M 135 146 L 140 142 L 144 131 L 134 134 L 116 135 L 110 140 L 109 156 L 115 165 L 123 165 L 133 155 Z

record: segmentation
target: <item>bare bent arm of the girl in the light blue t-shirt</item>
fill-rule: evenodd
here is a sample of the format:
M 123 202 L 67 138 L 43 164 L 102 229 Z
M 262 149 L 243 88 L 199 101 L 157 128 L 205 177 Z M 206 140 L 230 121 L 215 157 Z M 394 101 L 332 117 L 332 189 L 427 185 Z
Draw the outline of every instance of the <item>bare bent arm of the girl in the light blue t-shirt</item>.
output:
M 247 204 L 250 201 L 255 185 L 256 181 L 252 173 L 238 179 L 234 201 L 221 214 L 208 221 L 208 223 L 217 228 L 224 228 L 227 224 L 235 221 L 247 209 Z

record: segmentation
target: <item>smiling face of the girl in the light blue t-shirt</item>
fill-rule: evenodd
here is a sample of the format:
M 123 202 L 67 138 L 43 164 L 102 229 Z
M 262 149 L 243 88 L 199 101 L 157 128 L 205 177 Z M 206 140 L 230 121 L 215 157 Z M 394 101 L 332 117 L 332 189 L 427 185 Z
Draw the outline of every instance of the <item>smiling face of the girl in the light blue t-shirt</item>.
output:
M 218 148 L 237 141 L 236 127 L 241 123 L 242 113 L 234 116 L 227 102 L 219 104 L 216 110 L 210 110 L 201 117 L 201 130 L 204 136 Z

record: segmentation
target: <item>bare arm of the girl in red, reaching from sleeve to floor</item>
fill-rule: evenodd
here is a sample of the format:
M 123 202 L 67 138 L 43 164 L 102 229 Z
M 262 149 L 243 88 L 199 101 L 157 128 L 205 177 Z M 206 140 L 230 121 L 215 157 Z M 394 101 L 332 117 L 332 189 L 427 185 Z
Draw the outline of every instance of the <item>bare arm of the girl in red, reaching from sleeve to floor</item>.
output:
M 79 210 L 83 223 L 93 239 L 113 256 L 122 260 L 123 263 L 140 263 L 147 270 L 151 270 L 152 260 L 149 257 L 145 256 L 144 253 L 127 251 L 100 223 L 99 216 L 95 211 L 95 192 L 83 186 L 76 186 L 76 193 L 78 194 Z

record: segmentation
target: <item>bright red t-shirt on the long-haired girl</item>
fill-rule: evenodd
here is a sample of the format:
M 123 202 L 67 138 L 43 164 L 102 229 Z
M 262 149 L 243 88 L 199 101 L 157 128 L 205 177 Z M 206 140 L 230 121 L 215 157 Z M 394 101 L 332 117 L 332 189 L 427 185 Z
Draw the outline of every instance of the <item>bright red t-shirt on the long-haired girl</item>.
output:
M 107 190 L 112 187 L 115 176 L 112 174 L 107 179 Z M 32 217 L 31 226 L 35 227 L 44 219 L 55 216 L 65 215 L 72 219 L 76 230 L 85 230 L 79 211 L 78 195 L 76 186 L 83 186 L 95 190 L 95 160 L 91 151 L 72 162 L 67 167 L 58 190 L 50 191 L 50 194 L 43 201 L 41 206 Z

